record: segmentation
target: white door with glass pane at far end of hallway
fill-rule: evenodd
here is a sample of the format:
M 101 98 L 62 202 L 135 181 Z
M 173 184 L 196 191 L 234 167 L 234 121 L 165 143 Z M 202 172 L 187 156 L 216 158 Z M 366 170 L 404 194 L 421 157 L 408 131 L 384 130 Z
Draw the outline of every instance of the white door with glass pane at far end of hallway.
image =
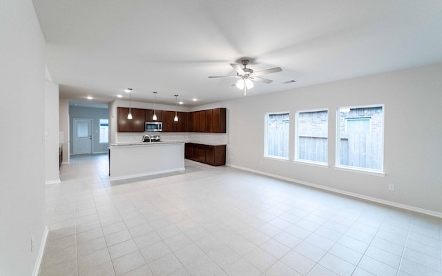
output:
M 92 119 L 74 119 L 74 155 L 92 153 Z

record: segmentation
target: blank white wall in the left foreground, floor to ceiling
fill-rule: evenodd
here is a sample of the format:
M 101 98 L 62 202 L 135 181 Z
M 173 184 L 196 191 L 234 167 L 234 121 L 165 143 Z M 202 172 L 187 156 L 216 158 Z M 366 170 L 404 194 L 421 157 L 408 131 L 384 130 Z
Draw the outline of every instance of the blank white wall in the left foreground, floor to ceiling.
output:
M 0 275 L 29 276 L 46 226 L 44 38 L 32 1 L 0 2 L 0 60 Z

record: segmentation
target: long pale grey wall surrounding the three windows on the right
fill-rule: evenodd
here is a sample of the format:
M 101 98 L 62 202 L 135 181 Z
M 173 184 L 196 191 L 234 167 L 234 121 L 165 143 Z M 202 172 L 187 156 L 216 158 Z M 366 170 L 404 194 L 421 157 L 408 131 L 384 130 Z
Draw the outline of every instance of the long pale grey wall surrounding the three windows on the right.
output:
M 442 215 L 442 63 L 319 86 L 224 101 L 199 109 L 227 108 L 227 164 L 430 210 Z M 240 91 L 238 91 L 240 92 Z M 336 108 L 385 104 L 385 177 L 336 170 Z M 294 157 L 297 110 L 329 110 L 329 167 L 263 157 L 267 112 L 289 111 Z M 395 190 L 389 191 L 388 184 Z

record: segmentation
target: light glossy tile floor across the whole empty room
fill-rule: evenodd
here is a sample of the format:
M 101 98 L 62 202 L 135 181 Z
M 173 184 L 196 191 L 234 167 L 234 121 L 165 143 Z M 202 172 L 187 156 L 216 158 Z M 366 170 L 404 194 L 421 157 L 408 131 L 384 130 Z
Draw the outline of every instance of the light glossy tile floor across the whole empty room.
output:
M 47 275 L 441 276 L 441 219 L 186 160 L 109 181 L 75 156 L 46 188 Z

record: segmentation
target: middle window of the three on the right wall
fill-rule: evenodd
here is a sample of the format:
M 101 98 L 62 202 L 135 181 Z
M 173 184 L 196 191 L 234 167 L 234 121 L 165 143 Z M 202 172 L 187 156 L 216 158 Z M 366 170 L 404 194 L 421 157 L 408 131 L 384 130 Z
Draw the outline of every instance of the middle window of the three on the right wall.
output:
M 327 164 L 328 110 L 296 114 L 296 161 Z

